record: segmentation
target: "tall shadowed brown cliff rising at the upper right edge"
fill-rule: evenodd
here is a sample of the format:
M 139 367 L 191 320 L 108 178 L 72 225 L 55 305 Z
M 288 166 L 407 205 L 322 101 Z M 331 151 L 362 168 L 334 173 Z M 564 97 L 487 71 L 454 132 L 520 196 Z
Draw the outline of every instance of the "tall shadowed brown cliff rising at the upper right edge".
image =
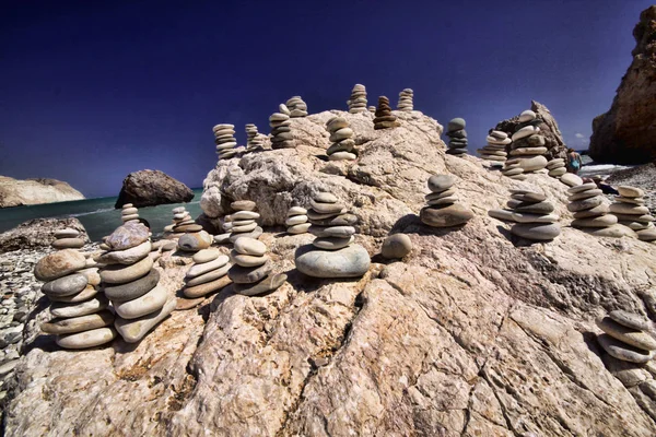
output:
M 633 61 L 610 110 L 595 118 L 589 154 L 596 162 L 645 164 L 656 160 L 656 5 L 633 29 Z

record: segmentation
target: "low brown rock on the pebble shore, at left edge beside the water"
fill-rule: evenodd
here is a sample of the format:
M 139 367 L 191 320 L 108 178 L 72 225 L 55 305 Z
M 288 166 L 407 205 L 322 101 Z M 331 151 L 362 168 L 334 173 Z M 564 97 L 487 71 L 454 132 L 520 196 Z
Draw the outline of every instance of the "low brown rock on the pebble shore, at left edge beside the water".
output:
M 72 228 L 89 243 L 84 226 L 78 218 L 35 218 L 0 234 L 0 253 L 21 249 L 50 247 L 55 241 L 55 231 Z

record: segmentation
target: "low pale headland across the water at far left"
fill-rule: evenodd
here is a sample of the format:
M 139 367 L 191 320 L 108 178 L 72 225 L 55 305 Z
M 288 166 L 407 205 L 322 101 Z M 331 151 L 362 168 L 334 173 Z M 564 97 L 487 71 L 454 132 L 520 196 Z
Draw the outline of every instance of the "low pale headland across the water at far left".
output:
M 0 176 L 0 208 L 82 200 L 84 196 L 57 179 L 19 180 Z

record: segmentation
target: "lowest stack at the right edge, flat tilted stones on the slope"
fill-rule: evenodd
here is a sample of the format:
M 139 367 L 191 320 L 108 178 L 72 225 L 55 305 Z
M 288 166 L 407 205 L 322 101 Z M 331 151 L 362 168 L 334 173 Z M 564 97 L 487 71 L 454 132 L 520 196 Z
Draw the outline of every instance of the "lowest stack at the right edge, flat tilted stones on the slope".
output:
M 643 316 L 614 310 L 596 320 L 602 334 L 597 341 L 604 351 L 622 362 L 644 364 L 656 354 L 652 321 Z

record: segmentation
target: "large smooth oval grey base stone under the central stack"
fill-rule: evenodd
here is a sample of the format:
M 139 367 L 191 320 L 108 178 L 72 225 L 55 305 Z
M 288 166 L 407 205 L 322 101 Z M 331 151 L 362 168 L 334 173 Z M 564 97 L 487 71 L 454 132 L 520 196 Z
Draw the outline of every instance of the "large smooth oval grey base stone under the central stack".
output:
M 359 245 L 333 251 L 305 245 L 296 249 L 295 260 L 296 269 L 313 277 L 360 277 L 371 265 L 367 251 Z

